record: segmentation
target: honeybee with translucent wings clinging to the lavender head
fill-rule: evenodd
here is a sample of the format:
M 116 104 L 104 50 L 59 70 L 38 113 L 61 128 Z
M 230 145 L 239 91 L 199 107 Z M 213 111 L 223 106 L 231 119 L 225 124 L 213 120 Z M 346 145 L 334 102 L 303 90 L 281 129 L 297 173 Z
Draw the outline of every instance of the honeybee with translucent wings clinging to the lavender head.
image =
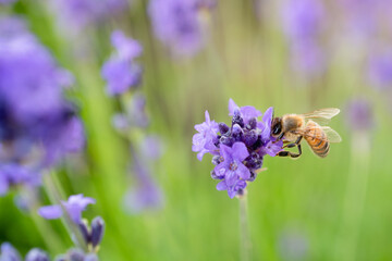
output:
M 301 141 L 304 138 L 313 152 L 326 158 L 330 151 L 331 142 L 340 142 L 340 135 L 329 126 L 321 126 L 338 115 L 336 108 L 320 109 L 304 114 L 285 114 L 281 117 L 273 117 L 271 124 L 271 135 L 277 141 L 283 139 L 286 145 L 283 148 L 298 148 L 298 153 L 282 150 L 277 156 L 298 158 L 302 154 Z

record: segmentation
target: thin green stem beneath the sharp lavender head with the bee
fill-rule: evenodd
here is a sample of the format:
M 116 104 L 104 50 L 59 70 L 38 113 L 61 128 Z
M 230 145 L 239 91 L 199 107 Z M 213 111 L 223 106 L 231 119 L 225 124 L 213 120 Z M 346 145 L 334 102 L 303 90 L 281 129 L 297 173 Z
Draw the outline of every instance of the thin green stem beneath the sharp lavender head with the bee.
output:
M 252 240 L 249 233 L 247 194 L 238 196 L 240 200 L 240 240 L 241 240 L 241 261 L 250 260 Z

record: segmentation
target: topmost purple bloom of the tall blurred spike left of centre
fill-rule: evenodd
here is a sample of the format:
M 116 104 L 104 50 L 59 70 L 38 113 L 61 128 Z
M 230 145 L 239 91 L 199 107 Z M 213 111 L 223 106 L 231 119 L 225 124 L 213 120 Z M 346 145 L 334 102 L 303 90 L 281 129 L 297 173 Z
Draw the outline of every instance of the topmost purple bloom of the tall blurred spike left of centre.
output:
M 125 37 L 120 30 L 113 32 L 111 38 L 117 52 L 103 64 L 102 77 L 108 82 L 108 94 L 114 96 L 140 84 L 142 67 L 134 59 L 142 54 L 143 49 L 136 40 Z

